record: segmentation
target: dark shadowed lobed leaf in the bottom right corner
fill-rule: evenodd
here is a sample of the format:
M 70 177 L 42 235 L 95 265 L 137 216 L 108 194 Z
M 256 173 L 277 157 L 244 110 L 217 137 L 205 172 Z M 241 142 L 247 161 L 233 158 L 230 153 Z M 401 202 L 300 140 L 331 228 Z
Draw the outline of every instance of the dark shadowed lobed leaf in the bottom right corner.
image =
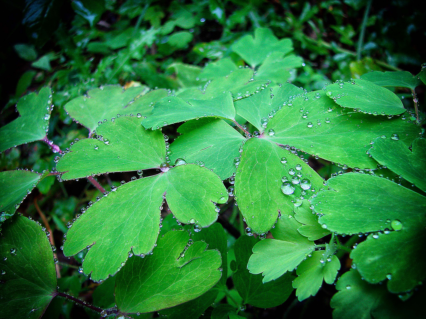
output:
M 383 285 L 370 285 L 360 274 L 350 269 L 336 283 L 338 292 L 331 298 L 334 319 L 421 319 L 426 289 L 421 287 L 414 295 L 402 301 L 386 291 Z

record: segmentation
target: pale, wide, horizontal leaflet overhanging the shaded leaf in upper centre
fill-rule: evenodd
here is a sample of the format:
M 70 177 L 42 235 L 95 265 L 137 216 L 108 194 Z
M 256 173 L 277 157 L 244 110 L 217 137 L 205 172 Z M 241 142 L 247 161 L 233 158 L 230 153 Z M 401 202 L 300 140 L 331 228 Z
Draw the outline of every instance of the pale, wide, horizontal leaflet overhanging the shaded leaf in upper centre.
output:
M 218 94 L 207 100 L 165 97 L 155 103 L 152 114 L 142 120 L 142 125 L 158 129 L 169 124 L 209 116 L 235 119 L 235 108 L 229 93 Z

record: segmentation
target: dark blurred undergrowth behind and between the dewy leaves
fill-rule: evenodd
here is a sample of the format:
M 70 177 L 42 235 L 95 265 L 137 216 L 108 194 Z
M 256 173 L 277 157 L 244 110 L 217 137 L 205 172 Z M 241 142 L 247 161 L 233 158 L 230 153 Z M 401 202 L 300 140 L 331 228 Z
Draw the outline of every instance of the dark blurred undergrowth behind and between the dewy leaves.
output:
M 218 57 L 232 57 L 229 47 L 233 41 L 259 26 L 271 28 L 279 38 L 293 40 L 295 52 L 305 59 L 306 66 L 296 71 L 291 82 L 307 90 L 320 89 L 335 80 L 356 78 L 371 70 L 406 70 L 417 74 L 426 62 L 426 2 L 372 1 L 363 24 L 366 5 L 368 1 L 363 0 L 2 0 L 0 125 L 17 117 L 14 105 L 22 95 L 50 85 L 55 91 L 55 108 L 49 138 L 65 149 L 75 138 L 87 136 L 87 130 L 73 122 L 63 110 L 63 105 L 73 97 L 99 85 L 126 85 L 131 81 L 151 88 L 175 89 L 176 78 L 168 68 L 171 63 L 204 66 Z M 102 44 L 112 35 L 125 34 L 129 28 L 148 30 L 163 26 L 176 19 L 183 8 L 191 13 L 195 22 L 188 28 L 193 34 L 192 40 L 182 47 L 168 45 L 165 34 L 157 37 L 151 46 L 141 46 L 131 52 L 132 32 L 123 45 Z M 202 19 L 205 21 L 201 22 Z M 180 30 L 185 28 L 174 29 Z M 362 30 L 365 36 L 359 43 Z M 90 45 L 92 42 L 101 45 L 94 48 Z M 18 43 L 26 44 L 35 55 L 23 59 L 15 46 Z M 417 95 L 423 101 L 421 90 L 423 88 L 419 88 Z M 397 94 L 407 96 L 404 104 L 413 108 L 411 93 L 402 90 Z M 424 118 L 423 112 L 420 103 L 421 118 Z M 176 137 L 176 127 L 168 127 L 164 132 L 170 141 Z M 54 156 L 42 142 L 30 143 L 1 154 L 0 169 L 51 169 Z M 310 164 L 325 178 L 339 170 L 329 162 L 312 158 Z M 99 182 L 111 185 L 128 181 L 133 175 L 110 174 L 99 177 Z M 98 194 L 84 179 L 60 183 L 52 177 L 44 184 L 29 195 L 19 212 L 40 221 L 46 216 L 59 247 L 66 223 Z M 222 207 L 220 221 L 231 234 L 238 236 L 241 225 L 239 219 L 234 218 L 232 204 Z M 230 239 L 232 242 L 232 235 Z M 79 257 L 66 259 L 58 250 L 58 258 L 62 275 L 60 289 L 92 302 L 97 284 L 78 272 Z M 348 259 L 342 270 L 347 270 L 349 265 Z M 231 280 L 228 284 L 232 289 Z M 317 296 L 304 302 L 298 302 L 293 293 L 279 307 L 264 310 L 248 306 L 245 314 L 249 318 L 330 318 L 329 301 L 335 292 L 333 285 L 324 284 Z M 209 310 L 204 317 L 208 317 L 208 313 Z M 43 318 L 96 316 L 90 310 L 56 298 Z M 152 316 L 158 317 L 158 314 Z

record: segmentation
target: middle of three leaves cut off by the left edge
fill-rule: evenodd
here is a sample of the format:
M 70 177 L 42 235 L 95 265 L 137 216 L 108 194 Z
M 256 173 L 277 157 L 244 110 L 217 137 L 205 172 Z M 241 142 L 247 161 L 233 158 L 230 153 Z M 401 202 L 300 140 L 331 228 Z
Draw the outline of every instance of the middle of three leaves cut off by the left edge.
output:
M 42 176 L 26 170 L 0 172 L 0 222 L 14 214 Z

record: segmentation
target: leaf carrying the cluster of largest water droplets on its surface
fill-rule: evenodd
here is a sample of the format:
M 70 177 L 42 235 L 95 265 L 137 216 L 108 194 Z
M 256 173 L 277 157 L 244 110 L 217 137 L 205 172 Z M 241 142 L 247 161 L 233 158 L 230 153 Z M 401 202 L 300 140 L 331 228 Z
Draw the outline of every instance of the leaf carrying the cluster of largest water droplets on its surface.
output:
M 256 234 L 268 232 L 279 212 L 291 214 L 296 197 L 309 197 L 322 187 L 321 177 L 304 161 L 263 138 L 248 140 L 240 161 L 235 196 L 248 227 Z

